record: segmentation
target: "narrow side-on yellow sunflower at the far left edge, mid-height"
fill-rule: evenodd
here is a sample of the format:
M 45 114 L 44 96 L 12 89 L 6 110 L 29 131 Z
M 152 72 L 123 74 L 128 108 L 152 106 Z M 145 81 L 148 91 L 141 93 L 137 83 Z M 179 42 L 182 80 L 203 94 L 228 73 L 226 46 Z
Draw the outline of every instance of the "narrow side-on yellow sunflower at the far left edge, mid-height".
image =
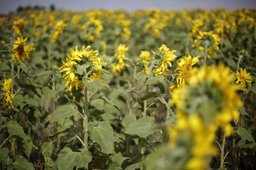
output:
M 13 108 L 13 102 L 11 99 L 14 97 L 14 94 L 11 94 L 11 88 L 12 88 L 12 79 L 5 79 L 5 82 L 2 84 L 3 85 L 3 91 L 5 92 L 4 94 L 4 106 L 8 107 L 9 109 Z

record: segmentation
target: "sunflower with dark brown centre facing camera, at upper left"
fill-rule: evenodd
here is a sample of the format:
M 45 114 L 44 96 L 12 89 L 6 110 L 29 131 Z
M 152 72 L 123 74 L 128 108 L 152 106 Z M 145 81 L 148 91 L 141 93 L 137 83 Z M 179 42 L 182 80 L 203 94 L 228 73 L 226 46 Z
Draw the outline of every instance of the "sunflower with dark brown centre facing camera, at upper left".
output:
M 13 60 L 23 62 L 25 58 L 30 59 L 29 55 L 34 49 L 34 43 L 26 45 L 27 38 L 18 37 L 13 44 Z

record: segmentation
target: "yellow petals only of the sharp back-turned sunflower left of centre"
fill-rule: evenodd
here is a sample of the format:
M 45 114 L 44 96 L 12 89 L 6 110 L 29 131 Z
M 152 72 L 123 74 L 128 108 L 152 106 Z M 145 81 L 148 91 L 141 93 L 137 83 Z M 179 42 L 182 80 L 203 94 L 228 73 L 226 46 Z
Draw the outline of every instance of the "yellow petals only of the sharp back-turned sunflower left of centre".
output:
M 101 62 L 103 61 L 101 57 L 98 57 L 98 50 L 89 50 L 91 46 L 87 46 L 86 48 L 83 46 L 81 50 L 77 50 L 77 46 L 74 49 L 70 49 L 71 57 L 67 54 L 66 63 L 62 61 L 62 66 L 59 68 L 60 73 L 65 72 L 62 76 L 64 78 L 64 82 L 66 82 L 66 86 L 70 84 L 70 88 L 75 87 L 76 89 L 81 86 L 84 88 L 84 83 L 75 76 L 74 66 L 77 65 L 78 61 L 81 61 L 83 57 L 88 57 L 93 62 L 94 69 L 101 69 Z M 77 62 L 76 62 L 77 61 Z M 96 78 L 101 78 L 102 72 L 94 72 L 88 77 L 88 81 L 92 81 Z

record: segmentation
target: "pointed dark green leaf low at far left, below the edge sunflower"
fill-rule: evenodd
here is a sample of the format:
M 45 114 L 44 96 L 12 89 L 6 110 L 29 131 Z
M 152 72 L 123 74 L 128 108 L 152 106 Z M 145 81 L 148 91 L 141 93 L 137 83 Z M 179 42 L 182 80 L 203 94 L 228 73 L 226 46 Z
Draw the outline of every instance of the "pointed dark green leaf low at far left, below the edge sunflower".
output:
M 30 137 L 24 133 L 23 128 L 13 120 L 8 122 L 7 128 L 10 136 L 19 136 L 23 139 L 30 139 Z

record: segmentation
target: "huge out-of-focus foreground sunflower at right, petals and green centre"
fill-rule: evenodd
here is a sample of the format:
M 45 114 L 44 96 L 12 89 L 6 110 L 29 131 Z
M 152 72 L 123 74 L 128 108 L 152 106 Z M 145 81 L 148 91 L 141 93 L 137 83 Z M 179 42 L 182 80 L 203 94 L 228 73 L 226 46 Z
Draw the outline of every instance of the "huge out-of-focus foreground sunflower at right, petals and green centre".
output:
M 189 151 L 184 169 L 207 168 L 207 158 L 216 154 L 213 142 L 218 126 L 227 136 L 231 134 L 229 122 L 238 119 L 237 108 L 242 106 L 236 94 L 238 86 L 231 85 L 233 77 L 222 64 L 218 68 L 202 67 L 190 76 L 187 86 L 172 93 L 178 116 L 176 125 L 168 128 L 169 145 Z

